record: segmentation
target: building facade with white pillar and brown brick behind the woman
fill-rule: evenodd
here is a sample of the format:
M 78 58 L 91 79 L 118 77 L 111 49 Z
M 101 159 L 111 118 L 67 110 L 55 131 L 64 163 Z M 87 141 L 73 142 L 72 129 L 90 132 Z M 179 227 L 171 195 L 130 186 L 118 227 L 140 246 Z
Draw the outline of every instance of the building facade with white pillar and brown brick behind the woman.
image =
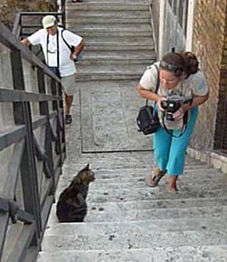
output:
M 200 159 L 220 155 L 223 160 L 227 153 L 227 0 L 153 0 L 151 12 L 159 58 L 173 50 L 192 51 L 210 87 L 190 151 Z

